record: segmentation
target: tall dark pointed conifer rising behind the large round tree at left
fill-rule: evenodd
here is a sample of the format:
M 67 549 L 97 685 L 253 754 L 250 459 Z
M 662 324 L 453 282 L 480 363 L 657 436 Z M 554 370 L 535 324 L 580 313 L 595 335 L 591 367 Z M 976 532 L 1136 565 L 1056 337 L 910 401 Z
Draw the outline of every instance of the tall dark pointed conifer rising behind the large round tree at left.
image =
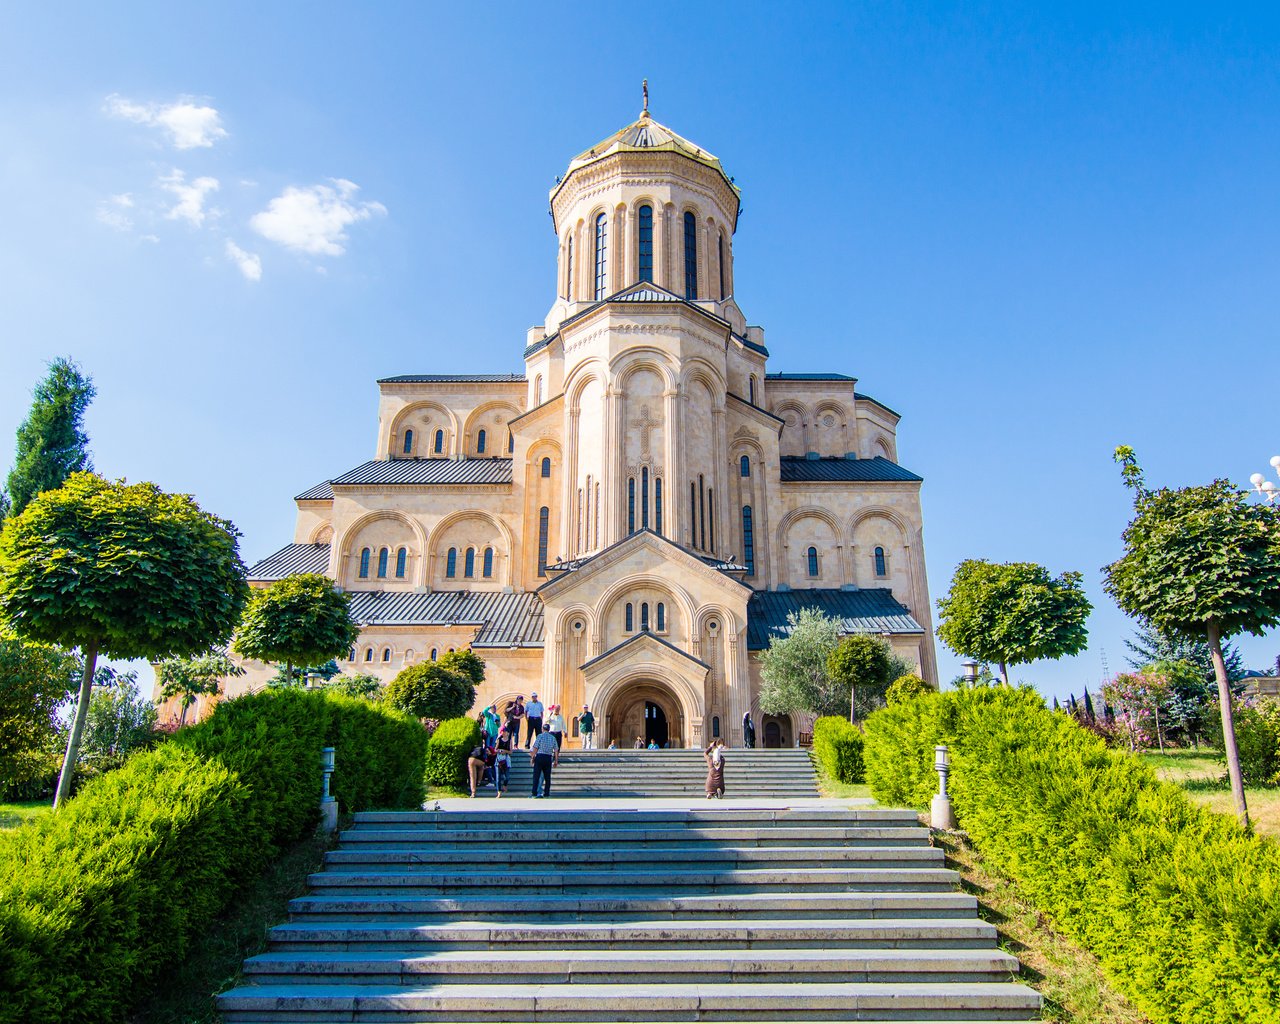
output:
M 31 412 L 18 428 L 18 453 L 9 472 L 12 515 L 45 490 L 60 488 L 73 472 L 92 472 L 84 411 L 97 390 L 70 360 L 58 358 L 33 392 Z

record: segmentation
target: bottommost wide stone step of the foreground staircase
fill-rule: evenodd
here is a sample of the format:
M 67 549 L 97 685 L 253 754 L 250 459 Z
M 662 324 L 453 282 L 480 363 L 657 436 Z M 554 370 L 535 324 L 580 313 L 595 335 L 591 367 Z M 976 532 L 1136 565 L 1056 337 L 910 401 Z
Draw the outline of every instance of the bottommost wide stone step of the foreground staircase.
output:
M 1033 1020 L 1039 996 L 998 982 L 732 984 L 246 986 L 218 997 L 228 1024 L 352 1021 Z M 291 1014 L 292 1016 L 283 1016 Z M 943 1016 L 945 1015 L 945 1016 Z

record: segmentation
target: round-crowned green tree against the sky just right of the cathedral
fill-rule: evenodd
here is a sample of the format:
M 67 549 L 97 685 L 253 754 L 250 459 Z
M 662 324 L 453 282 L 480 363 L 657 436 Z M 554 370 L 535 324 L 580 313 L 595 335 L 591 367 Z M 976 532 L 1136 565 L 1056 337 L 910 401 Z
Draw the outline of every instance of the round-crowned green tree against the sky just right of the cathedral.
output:
M 1088 643 L 1092 607 L 1079 572 L 1057 579 L 1034 562 L 968 558 L 938 600 L 938 636 L 956 654 L 1009 666 L 1079 654 Z

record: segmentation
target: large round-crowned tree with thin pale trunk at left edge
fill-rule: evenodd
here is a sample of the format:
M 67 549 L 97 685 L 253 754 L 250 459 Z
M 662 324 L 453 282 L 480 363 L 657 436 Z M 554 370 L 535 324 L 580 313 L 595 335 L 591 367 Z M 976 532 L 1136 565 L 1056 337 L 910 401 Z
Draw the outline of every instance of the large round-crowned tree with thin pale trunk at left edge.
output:
M 238 536 L 186 494 L 87 472 L 5 522 L 0 614 L 84 657 L 54 806 L 70 792 L 99 654 L 161 660 L 229 639 L 246 599 Z

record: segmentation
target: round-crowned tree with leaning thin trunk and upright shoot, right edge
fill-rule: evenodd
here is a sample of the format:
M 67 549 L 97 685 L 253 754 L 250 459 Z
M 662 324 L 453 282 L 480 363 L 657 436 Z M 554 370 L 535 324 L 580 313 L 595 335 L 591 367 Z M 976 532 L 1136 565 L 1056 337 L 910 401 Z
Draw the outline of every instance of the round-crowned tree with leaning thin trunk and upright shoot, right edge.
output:
M 1222 640 L 1280 622 L 1280 518 L 1226 480 L 1148 490 L 1133 449 L 1121 445 L 1115 457 L 1134 492 L 1134 517 L 1123 534 L 1124 556 L 1102 570 L 1103 586 L 1128 614 L 1208 644 L 1228 774 L 1248 826 Z

